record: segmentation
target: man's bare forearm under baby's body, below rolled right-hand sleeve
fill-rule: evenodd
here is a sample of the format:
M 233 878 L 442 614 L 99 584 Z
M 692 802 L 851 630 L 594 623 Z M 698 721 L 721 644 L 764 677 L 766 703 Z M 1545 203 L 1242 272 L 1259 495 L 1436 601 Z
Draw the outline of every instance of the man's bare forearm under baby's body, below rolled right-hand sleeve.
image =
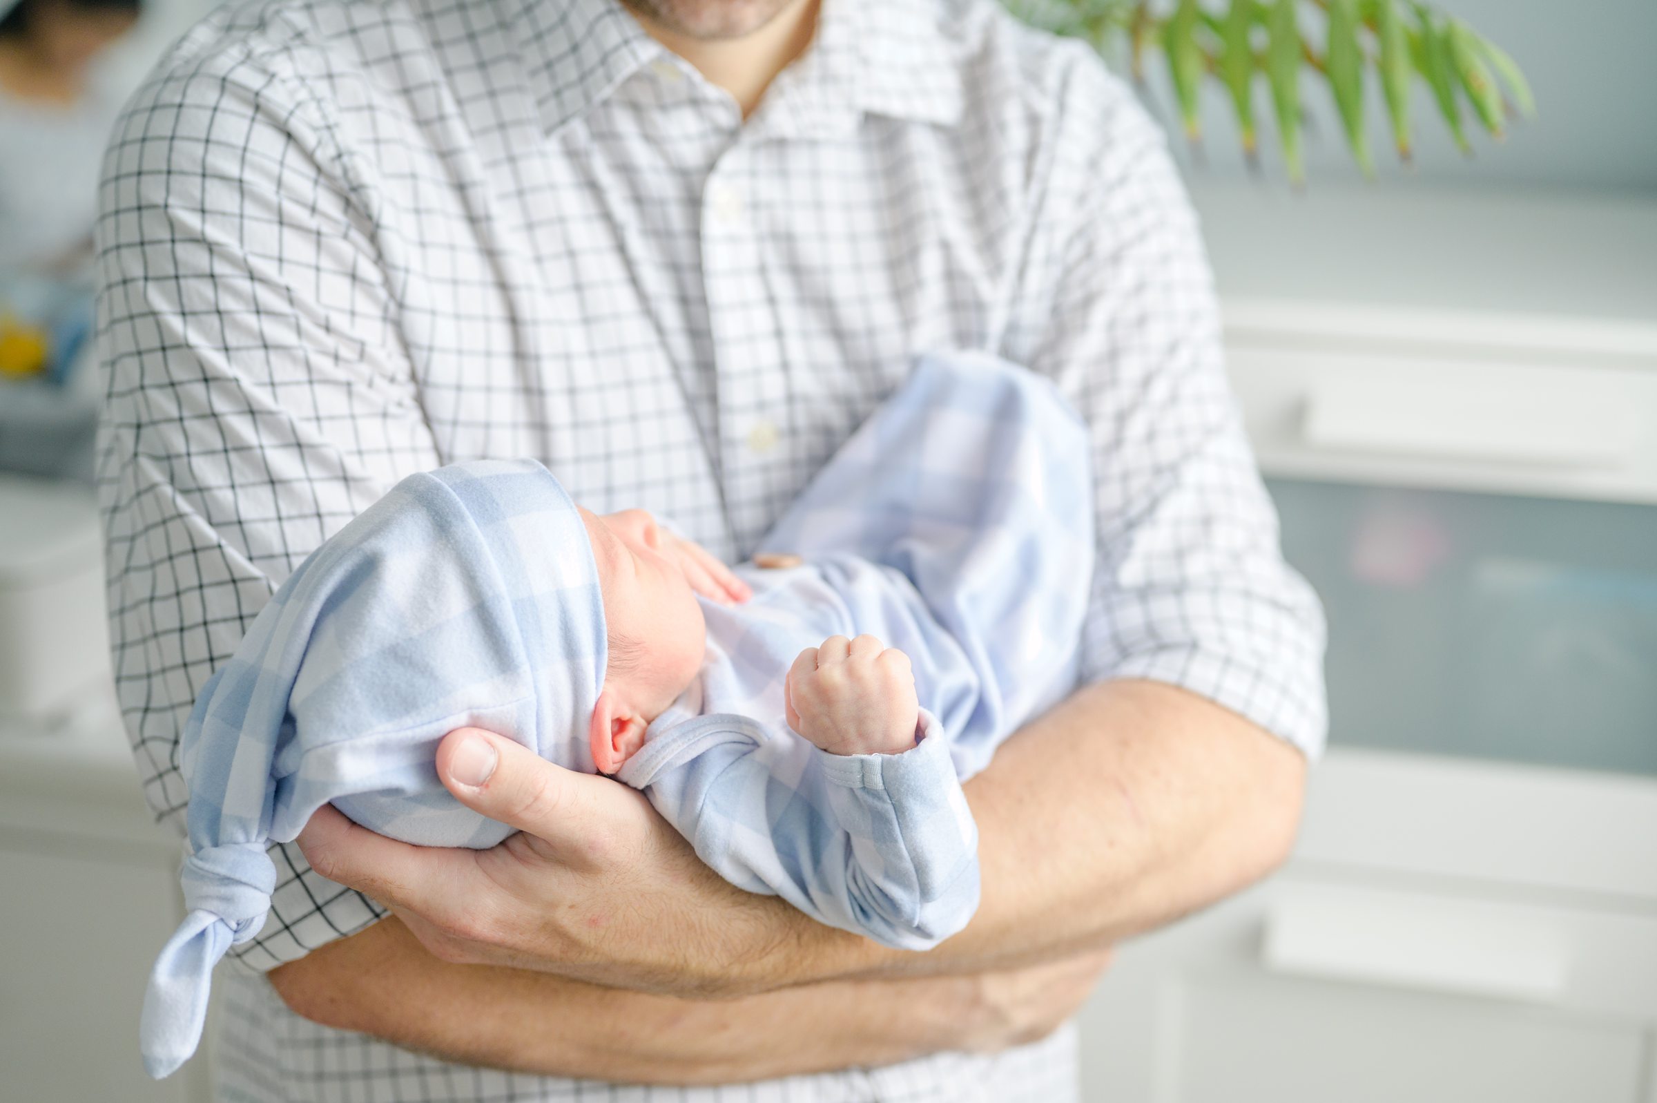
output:
M 1292 846 L 1306 760 L 1185 690 L 1104 682 L 966 786 L 983 904 L 926 954 L 815 929 L 792 979 L 1007 967 L 1114 944 L 1256 881 Z

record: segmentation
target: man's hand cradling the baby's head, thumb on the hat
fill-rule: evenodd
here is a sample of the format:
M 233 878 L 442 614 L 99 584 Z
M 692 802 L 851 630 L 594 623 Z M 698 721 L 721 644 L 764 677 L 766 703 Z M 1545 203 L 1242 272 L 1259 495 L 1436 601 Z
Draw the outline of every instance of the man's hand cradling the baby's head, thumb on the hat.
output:
M 325 806 L 298 843 L 316 872 L 383 902 L 446 962 L 739 995 L 782 984 L 772 960 L 789 957 L 790 932 L 817 926 L 727 884 L 618 781 L 476 728 L 442 741 L 437 776 L 519 834 L 487 851 L 409 846 Z

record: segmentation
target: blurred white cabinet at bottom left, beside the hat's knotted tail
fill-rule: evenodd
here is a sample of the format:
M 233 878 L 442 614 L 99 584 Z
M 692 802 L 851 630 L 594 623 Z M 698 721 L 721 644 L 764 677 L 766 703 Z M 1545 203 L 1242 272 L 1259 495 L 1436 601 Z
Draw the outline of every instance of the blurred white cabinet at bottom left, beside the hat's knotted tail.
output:
M 119 720 L 0 723 L 0 1100 L 205 1103 L 138 1053 L 144 982 L 181 919 L 179 844 L 144 809 Z

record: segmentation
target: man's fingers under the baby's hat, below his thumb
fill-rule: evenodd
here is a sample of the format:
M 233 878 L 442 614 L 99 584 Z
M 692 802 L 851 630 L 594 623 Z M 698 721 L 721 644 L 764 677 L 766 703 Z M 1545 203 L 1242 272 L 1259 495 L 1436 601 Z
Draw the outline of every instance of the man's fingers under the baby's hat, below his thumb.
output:
M 298 844 L 312 869 L 388 907 L 452 897 L 476 871 L 469 851 L 388 839 L 351 823 L 333 804 L 316 809 Z

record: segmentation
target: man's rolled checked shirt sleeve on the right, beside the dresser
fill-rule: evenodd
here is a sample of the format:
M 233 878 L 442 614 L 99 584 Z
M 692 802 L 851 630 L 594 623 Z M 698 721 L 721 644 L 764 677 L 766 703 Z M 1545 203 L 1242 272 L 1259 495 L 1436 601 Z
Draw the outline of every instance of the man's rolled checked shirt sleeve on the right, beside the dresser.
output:
M 1180 685 L 1317 755 L 1322 610 L 1279 551 L 1196 216 L 1132 93 L 1089 53 L 1072 60 L 1026 265 L 1051 282 L 1007 338 L 1092 436 L 1082 678 Z

